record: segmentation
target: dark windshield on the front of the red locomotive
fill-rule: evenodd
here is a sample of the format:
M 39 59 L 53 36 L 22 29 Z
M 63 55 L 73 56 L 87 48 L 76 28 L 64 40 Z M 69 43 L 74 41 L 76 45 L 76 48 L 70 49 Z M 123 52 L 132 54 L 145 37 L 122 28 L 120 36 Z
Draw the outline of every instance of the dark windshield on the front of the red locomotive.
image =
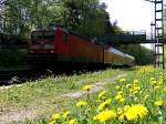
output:
M 34 31 L 32 32 L 31 40 L 33 41 L 53 41 L 54 32 L 53 31 Z

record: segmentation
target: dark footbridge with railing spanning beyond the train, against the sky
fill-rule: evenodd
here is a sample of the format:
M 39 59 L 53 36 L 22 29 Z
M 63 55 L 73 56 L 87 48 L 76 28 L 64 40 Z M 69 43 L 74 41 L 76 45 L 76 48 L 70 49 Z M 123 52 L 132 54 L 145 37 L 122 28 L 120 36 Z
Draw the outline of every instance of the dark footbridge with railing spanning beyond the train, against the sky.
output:
M 89 37 L 90 38 L 90 37 Z M 154 43 L 152 35 L 145 31 L 125 32 L 123 34 L 105 34 L 100 37 L 91 37 L 97 39 L 98 42 L 104 44 L 138 44 L 138 43 Z

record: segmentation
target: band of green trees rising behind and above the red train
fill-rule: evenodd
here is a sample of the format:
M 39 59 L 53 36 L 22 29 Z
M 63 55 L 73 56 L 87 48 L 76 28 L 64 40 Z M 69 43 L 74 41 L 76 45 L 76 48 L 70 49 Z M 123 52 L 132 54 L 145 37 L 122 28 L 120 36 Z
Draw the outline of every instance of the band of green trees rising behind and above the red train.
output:
M 100 0 L 7 0 L 0 3 L 0 31 L 27 37 L 34 28 L 64 28 L 84 35 L 115 32 Z

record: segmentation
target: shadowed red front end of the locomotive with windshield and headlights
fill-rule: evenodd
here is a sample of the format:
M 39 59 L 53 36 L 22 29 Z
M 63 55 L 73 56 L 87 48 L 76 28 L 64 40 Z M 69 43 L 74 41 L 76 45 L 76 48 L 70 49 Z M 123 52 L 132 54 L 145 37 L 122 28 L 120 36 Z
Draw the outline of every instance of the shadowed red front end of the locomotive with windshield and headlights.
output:
M 55 58 L 55 30 L 35 30 L 31 33 L 29 63 L 32 68 L 50 65 Z

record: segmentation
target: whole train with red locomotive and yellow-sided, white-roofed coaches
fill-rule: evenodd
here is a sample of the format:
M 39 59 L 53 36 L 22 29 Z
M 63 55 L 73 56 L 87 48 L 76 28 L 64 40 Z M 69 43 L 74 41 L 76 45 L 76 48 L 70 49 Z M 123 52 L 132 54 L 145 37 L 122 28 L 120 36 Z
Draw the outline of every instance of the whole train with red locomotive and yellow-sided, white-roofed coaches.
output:
M 95 40 L 87 40 L 63 28 L 34 30 L 29 44 L 29 62 L 33 68 L 133 66 L 135 58 Z

